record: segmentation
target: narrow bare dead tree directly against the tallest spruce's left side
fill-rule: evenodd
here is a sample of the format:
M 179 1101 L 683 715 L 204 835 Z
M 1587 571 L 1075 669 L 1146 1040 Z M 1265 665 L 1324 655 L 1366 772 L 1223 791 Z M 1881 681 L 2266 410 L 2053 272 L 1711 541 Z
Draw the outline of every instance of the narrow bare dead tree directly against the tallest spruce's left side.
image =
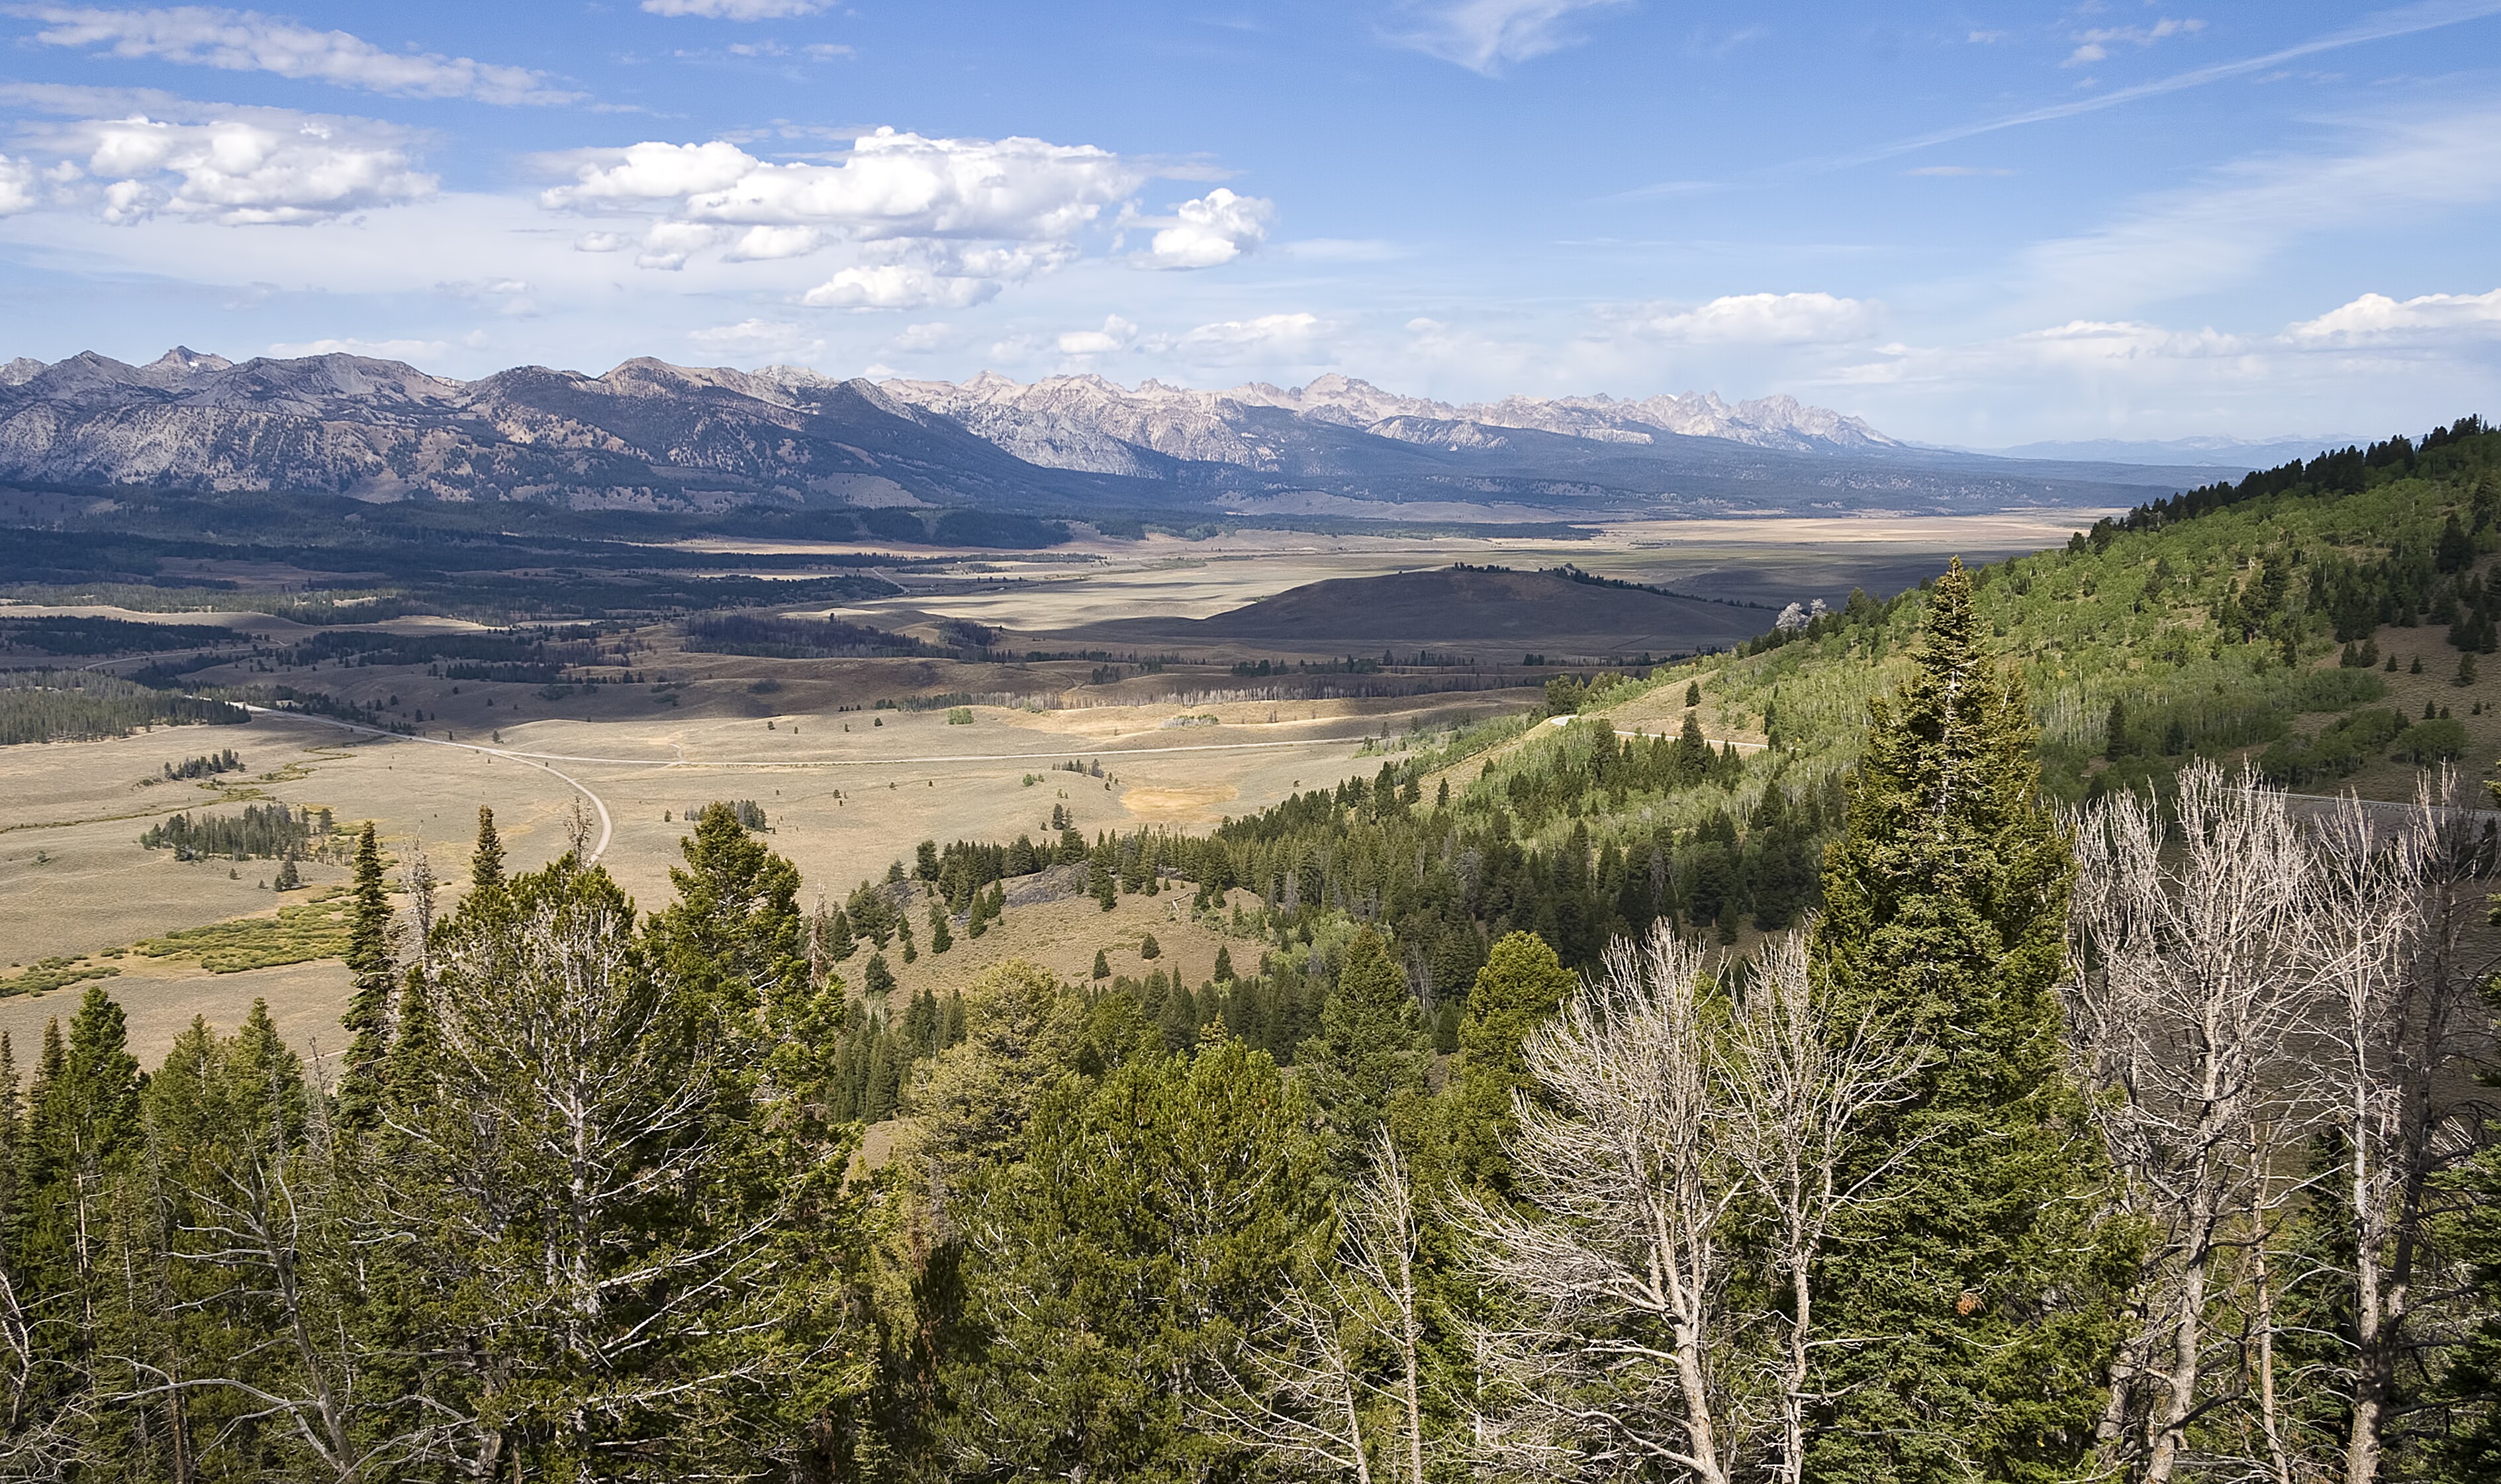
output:
M 1806 936 L 1763 941 L 1721 1079 L 1731 1096 L 1733 1159 L 1761 1209 L 1763 1264 L 1773 1291 L 1788 1289 L 1788 1314 L 1773 1316 L 1781 1344 L 1778 1456 L 1771 1476 L 1806 1476 L 1806 1419 L 1821 1399 L 1811 1389 L 1821 1346 L 1846 1344 L 1816 1334 L 1816 1261 L 1833 1221 L 1863 1206 L 1871 1191 L 1916 1149 L 1903 1144 L 1851 1174 L 1848 1159 L 1873 1109 L 1906 1096 L 1918 1059 L 1871 1021 L 1833 1024 L 1806 973 Z

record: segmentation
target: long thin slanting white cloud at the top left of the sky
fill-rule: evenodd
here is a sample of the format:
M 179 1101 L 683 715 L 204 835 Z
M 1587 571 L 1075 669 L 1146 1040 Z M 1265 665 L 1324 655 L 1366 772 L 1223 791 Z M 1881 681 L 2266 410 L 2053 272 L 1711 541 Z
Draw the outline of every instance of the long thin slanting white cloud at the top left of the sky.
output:
M 345 30 L 313 30 L 253 10 L 13 5 L 10 15 L 43 23 L 35 43 L 105 48 L 115 58 L 153 58 L 228 73 L 278 73 L 280 78 L 305 78 L 395 98 L 473 98 L 478 103 L 570 103 L 580 98 L 580 93 L 548 88 L 548 75 L 530 68 L 498 68 L 435 53 L 390 53 Z

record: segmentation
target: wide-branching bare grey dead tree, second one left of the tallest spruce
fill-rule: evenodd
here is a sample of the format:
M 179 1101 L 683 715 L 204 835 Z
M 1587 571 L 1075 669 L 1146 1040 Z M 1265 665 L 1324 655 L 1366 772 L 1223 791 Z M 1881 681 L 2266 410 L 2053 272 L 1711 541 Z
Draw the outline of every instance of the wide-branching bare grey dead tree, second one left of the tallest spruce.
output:
M 1713 996 L 1703 951 L 1661 923 L 1528 1039 L 1541 1096 L 1513 1104 L 1511 1161 L 1533 1209 L 1458 1209 L 1516 1316 L 1481 1334 L 1496 1466 L 1731 1476 L 1751 1419 L 1726 1226 L 1746 1186 Z

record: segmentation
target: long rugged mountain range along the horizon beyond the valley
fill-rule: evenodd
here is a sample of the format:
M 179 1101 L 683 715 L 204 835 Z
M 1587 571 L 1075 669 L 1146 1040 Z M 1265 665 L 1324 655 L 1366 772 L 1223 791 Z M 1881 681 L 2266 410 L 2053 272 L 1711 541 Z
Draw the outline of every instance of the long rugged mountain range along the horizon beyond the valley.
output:
M 188 348 L 148 365 L 85 353 L 0 368 L 0 480 L 63 488 L 1536 523 L 2131 506 L 2218 468 L 2246 465 L 1913 448 L 1786 395 L 1451 405 L 1346 375 L 1128 390 L 638 358 L 605 375 L 450 380 L 360 355 L 230 363 Z

